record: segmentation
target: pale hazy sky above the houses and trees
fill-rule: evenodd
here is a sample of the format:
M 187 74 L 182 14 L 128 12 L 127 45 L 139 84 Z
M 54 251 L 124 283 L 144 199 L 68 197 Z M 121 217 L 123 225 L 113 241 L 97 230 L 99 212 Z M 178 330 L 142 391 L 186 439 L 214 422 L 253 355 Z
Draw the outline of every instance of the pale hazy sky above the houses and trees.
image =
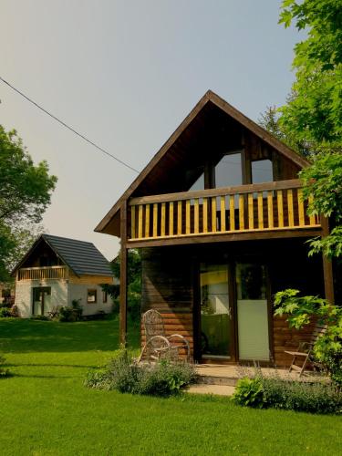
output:
M 0 0 L 0 76 L 141 170 L 208 88 L 251 119 L 293 80 L 294 29 L 277 0 Z M 16 128 L 57 190 L 47 232 L 90 241 L 136 177 L 0 82 L 0 123 Z

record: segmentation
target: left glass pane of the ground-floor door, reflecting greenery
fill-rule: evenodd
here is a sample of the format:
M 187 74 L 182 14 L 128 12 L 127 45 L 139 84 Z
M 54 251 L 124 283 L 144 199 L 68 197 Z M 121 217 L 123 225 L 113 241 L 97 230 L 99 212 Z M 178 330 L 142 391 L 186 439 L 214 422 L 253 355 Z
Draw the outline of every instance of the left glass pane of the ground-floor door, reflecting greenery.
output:
M 227 264 L 201 264 L 202 356 L 231 357 L 233 343 Z

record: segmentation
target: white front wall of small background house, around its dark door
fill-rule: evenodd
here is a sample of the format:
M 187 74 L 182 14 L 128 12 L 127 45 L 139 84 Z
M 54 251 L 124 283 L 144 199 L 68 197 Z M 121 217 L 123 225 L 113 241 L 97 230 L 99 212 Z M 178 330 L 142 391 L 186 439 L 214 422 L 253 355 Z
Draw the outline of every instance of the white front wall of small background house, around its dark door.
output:
M 51 298 L 49 305 L 45 306 L 45 314 L 55 307 L 67 306 L 66 280 L 22 280 L 16 281 L 16 306 L 19 315 L 27 318 L 32 316 L 33 288 L 50 286 Z

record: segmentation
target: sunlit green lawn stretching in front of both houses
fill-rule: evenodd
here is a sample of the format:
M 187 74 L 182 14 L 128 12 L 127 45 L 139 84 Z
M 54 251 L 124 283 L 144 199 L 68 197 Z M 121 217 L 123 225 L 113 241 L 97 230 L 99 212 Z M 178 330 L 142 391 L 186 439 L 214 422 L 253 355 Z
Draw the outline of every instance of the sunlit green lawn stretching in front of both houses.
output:
M 0 319 L 0 454 L 340 454 L 337 416 L 155 399 L 82 386 L 118 347 L 118 323 Z M 130 344 L 138 347 L 134 333 Z

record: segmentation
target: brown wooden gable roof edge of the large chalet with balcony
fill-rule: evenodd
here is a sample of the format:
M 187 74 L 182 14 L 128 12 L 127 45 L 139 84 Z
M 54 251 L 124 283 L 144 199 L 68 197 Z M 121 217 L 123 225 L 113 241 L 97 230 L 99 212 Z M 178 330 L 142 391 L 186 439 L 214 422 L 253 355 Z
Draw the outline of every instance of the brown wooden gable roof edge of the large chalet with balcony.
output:
M 131 183 L 126 192 L 121 195 L 118 202 L 114 204 L 102 221 L 98 223 L 98 226 L 95 228 L 96 232 L 113 233 L 113 231 L 119 230 L 119 210 L 122 202 L 133 196 L 137 189 L 143 187 L 144 181 L 153 181 L 153 173 L 155 173 L 158 167 L 163 167 L 162 161 L 166 158 L 168 153 L 170 153 L 172 146 L 180 139 L 181 134 L 190 126 L 190 124 L 199 117 L 209 105 L 216 109 L 220 109 L 223 113 L 242 125 L 246 130 L 253 132 L 254 135 L 261 140 L 264 140 L 265 143 L 277 150 L 281 155 L 285 156 L 287 160 L 294 162 L 300 169 L 308 166 L 308 161 L 298 155 L 294 150 L 291 150 L 282 141 L 277 140 L 271 133 L 257 125 L 253 120 L 248 119 L 242 112 L 233 108 L 232 105 L 216 95 L 212 90 L 208 90 L 192 109 L 190 114 L 181 122 L 178 129 L 171 134 L 169 140 L 163 144 L 161 150 L 154 155 L 135 181 Z

